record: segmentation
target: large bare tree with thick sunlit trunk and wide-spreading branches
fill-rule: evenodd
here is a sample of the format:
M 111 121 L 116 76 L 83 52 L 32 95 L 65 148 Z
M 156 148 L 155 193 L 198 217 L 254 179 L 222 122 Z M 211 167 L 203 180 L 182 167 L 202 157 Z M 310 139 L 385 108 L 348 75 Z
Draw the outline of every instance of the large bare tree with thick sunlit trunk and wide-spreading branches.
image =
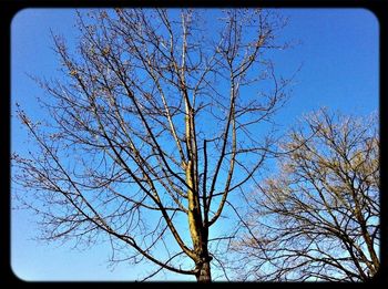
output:
M 286 100 L 289 80 L 265 58 L 284 48 L 284 24 L 262 9 L 115 9 L 79 13 L 73 52 L 53 35 L 63 79 L 38 80 L 47 120 L 19 107 L 34 149 L 12 157 L 42 237 L 105 236 L 113 261 L 156 266 L 144 280 L 171 270 L 211 281 L 212 259 L 222 264 L 212 241 L 233 236 L 210 229 L 263 164 Z

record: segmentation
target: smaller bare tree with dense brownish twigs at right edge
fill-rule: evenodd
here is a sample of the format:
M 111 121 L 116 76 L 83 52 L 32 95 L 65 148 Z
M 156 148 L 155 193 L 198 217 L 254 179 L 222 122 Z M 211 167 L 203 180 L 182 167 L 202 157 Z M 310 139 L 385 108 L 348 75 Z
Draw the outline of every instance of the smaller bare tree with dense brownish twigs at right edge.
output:
M 262 280 L 367 281 L 379 269 L 379 137 L 376 117 L 327 110 L 283 143 L 279 173 L 249 198 L 236 241 Z

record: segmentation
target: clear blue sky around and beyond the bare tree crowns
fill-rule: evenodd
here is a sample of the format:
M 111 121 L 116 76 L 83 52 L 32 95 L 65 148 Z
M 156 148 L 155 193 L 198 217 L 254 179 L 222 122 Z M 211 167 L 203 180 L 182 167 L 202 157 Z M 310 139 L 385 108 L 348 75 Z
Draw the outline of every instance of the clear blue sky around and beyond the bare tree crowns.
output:
M 293 49 L 275 53 L 278 72 L 286 75 L 303 63 L 288 104 L 278 116 L 289 126 L 303 113 L 320 106 L 359 115 L 378 110 L 378 21 L 361 9 L 287 9 L 285 40 L 300 40 Z M 51 50 L 50 29 L 70 43 L 76 37 L 74 10 L 48 9 L 19 12 L 11 28 L 11 102 L 19 102 L 32 116 L 40 114 L 35 96 L 42 92 L 25 73 L 60 76 Z M 25 133 L 11 120 L 11 149 L 24 149 Z M 144 268 L 119 265 L 111 270 L 109 247 L 99 245 L 84 251 L 71 245 L 43 244 L 37 236 L 34 216 L 11 214 L 11 266 L 25 280 L 133 280 Z M 164 278 L 159 275 L 157 279 Z M 170 275 L 169 280 L 185 277 Z

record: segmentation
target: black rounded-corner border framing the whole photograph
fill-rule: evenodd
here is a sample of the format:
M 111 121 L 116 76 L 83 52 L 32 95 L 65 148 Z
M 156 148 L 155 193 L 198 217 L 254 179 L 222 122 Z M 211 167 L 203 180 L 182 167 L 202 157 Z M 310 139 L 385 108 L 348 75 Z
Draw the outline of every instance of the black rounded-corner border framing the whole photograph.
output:
M 2 91 L 2 96 L 0 96 L 0 132 L 3 136 L 1 142 L 1 165 L 2 165 L 2 179 L 1 186 L 2 190 L 0 194 L 0 228 L 2 236 L 0 238 L 0 265 L 2 270 L 0 271 L 0 283 L 4 285 L 38 285 L 38 286 L 51 286 L 55 283 L 61 283 L 62 281 L 24 281 L 19 279 L 12 271 L 11 268 L 11 233 L 10 233 L 10 116 L 11 116 L 11 21 L 12 18 L 24 8 L 111 8 L 111 7 L 195 7 L 195 8 L 221 8 L 221 7 L 264 7 L 264 8 L 364 8 L 372 12 L 379 21 L 379 117 L 380 117 L 380 225 L 381 225 L 381 242 L 380 242 L 380 260 L 381 267 L 379 272 L 376 275 L 375 279 L 370 283 L 354 283 L 353 286 L 379 286 L 388 283 L 388 196 L 385 182 L 387 176 L 385 164 L 387 159 L 387 153 L 385 148 L 385 128 L 387 116 L 385 115 L 385 109 L 388 102 L 388 78 L 387 78 L 387 52 L 388 52 L 388 1 L 386 0 L 224 0 L 224 1 L 210 1 L 210 0 L 172 0 L 172 1 L 145 1 L 145 0 L 0 0 L 0 33 L 1 33 L 1 45 L 2 53 L 0 56 L 0 91 Z M 136 285 L 135 282 L 131 282 Z M 65 281 L 69 285 L 96 285 L 96 281 Z M 129 286 L 127 282 L 119 281 L 106 281 L 102 283 L 112 283 L 114 286 Z M 163 282 L 163 283 L 177 283 L 181 282 Z M 146 285 L 146 283 L 145 283 Z M 252 283 L 245 283 L 247 286 Z M 329 286 L 327 282 L 279 282 L 279 283 L 257 283 L 258 286 Z M 254 283 L 254 286 L 257 286 Z

